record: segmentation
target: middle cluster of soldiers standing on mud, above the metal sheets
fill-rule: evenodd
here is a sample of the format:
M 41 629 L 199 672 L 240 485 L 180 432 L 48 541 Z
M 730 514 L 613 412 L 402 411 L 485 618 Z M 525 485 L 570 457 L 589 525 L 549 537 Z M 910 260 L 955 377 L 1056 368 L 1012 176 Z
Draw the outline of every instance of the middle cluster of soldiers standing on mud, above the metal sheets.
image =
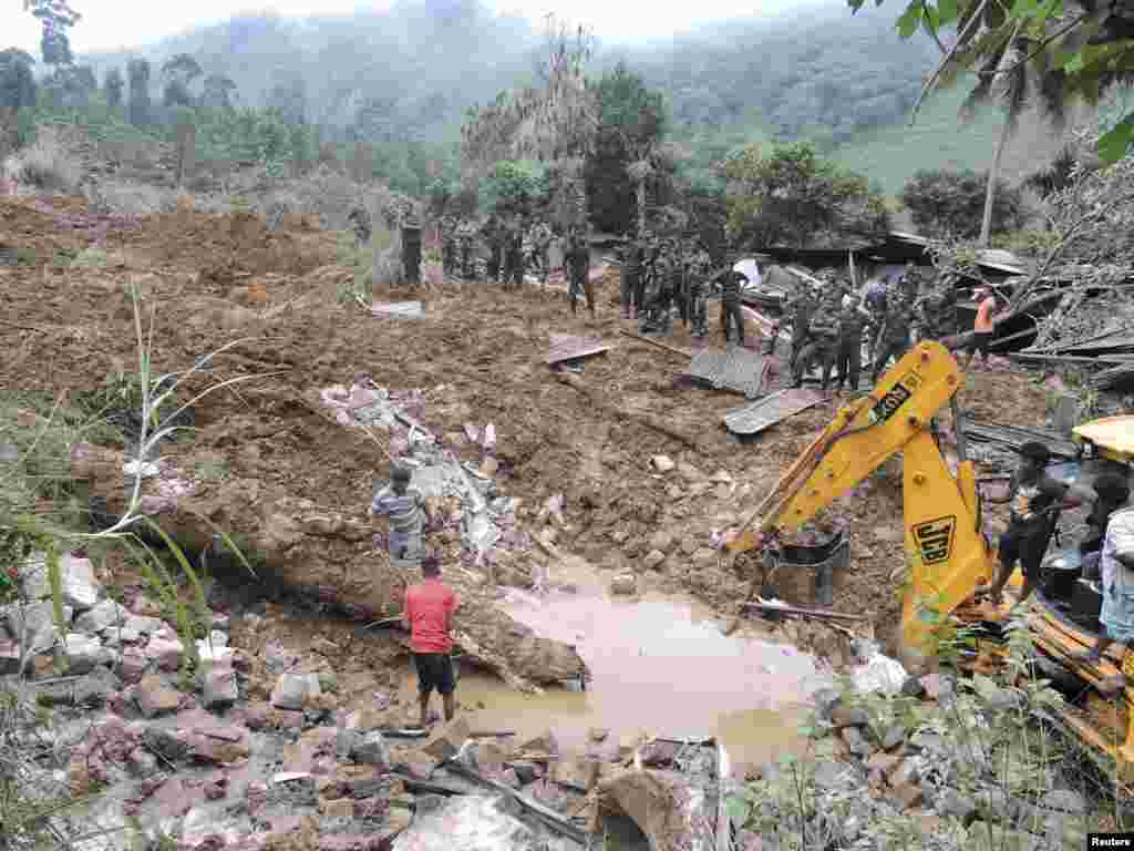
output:
M 669 334 L 676 306 L 694 337 L 706 336 L 711 272 L 712 260 L 697 241 L 660 238 L 644 230 L 628 243 L 623 258 L 623 319 L 638 320 L 643 334 Z M 739 303 L 738 286 L 736 292 Z M 743 322 L 739 339 L 744 342 Z

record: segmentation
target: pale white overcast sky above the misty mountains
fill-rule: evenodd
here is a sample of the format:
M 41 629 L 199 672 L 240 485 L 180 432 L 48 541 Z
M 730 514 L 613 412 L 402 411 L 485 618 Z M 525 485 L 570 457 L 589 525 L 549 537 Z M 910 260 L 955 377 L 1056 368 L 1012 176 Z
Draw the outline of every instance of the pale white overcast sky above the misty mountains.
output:
M 135 48 L 200 24 L 225 20 L 238 10 L 271 10 L 285 16 L 349 15 L 356 8 L 388 8 L 389 2 L 357 0 L 262 0 L 244 6 L 231 0 L 71 0 L 83 19 L 71 32 L 77 53 Z M 659 39 L 687 31 L 697 23 L 733 17 L 779 15 L 801 6 L 832 0 L 700 0 L 697 3 L 665 0 L 486 0 L 500 12 L 516 12 L 535 22 L 556 11 L 573 24 L 590 24 L 607 44 Z M 40 23 L 23 10 L 22 0 L 0 0 L 0 49 L 18 47 L 39 59 Z

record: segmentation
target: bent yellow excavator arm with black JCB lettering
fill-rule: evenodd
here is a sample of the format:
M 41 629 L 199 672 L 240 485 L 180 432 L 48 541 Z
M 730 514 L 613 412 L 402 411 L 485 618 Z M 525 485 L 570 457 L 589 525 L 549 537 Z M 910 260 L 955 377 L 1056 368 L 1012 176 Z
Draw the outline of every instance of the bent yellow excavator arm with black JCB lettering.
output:
M 920 343 L 870 395 L 839 410 L 728 548 L 756 549 L 780 532 L 798 529 L 902 453 L 905 548 L 911 562 L 903 644 L 922 649 L 936 617 L 954 612 L 992 574 L 972 462 L 962 461 L 954 477 L 930 430 L 930 421 L 959 386 L 957 363 L 945 346 Z M 746 531 L 750 526 L 755 531 Z

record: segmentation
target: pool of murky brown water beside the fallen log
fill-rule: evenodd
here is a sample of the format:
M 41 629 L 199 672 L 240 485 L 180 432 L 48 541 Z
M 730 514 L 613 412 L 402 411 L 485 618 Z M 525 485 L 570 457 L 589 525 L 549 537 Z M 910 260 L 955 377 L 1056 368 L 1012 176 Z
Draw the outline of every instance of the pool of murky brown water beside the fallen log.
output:
M 517 743 L 551 730 L 560 747 L 583 750 L 593 727 L 609 731 L 609 747 L 641 732 L 712 735 L 734 764 L 754 765 L 802 749 L 796 730 L 809 696 L 827 682 L 811 656 L 748 623 L 725 635 L 720 621 L 692 600 L 612 597 L 578 559 L 558 568 L 544 593 L 509 589 L 500 605 L 539 634 L 575 644 L 591 674 L 585 690 L 532 696 L 463 671 L 457 698 L 473 728 L 513 730 Z M 407 669 L 404 705 L 413 705 L 415 686 Z

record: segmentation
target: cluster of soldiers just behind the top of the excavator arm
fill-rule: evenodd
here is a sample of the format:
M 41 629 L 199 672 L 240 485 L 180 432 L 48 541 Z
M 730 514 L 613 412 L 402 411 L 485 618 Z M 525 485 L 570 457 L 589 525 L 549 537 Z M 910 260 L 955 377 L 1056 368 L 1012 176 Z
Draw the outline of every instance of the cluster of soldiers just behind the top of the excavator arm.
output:
M 947 277 L 931 285 L 908 263 L 888 284 L 868 287 L 865 305 L 852 290 L 849 276 L 823 269 L 819 278 L 821 295 L 816 297 L 801 281 L 780 320 L 792 326 L 793 387 L 801 387 L 803 377 L 819 366 L 823 393 L 832 371 L 837 372 L 837 390 L 848 381 L 850 390 L 858 389 L 864 335 L 872 361 L 871 382 L 877 384 L 890 359 L 899 360 L 914 337 L 942 339 L 956 334 L 956 301 Z M 779 328 L 779 323 L 773 328 L 773 340 Z

